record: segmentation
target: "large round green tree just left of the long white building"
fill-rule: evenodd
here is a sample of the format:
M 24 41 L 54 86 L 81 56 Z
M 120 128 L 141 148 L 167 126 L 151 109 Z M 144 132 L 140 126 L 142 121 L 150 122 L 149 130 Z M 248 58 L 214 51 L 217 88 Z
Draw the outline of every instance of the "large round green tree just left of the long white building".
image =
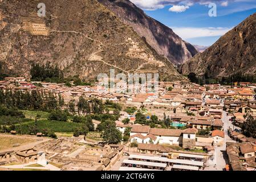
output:
M 117 144 L 122 140 L 121 131 L 117 130 L 115 126 L 107 126 L 103 131 L 103 141 L 108 144 Z

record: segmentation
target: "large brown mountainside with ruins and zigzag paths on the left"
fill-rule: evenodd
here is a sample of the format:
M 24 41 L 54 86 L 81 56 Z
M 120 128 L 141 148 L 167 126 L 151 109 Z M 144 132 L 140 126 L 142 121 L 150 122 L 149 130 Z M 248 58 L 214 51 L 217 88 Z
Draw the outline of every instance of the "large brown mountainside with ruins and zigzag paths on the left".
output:
M 58 65 L 64 76 L 95 79 L 99 73 L 156 73 L 183 80 L 132 27 L 96 0 L 0 2 L 0 64 L 8 75 L 30 76 L 32 63 Z

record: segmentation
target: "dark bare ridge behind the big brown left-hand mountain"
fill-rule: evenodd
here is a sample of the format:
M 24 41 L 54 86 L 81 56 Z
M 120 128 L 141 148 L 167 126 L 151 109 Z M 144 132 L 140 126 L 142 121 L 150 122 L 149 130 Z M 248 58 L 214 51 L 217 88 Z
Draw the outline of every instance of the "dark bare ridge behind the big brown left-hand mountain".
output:
M 149 17 L 143 10 L 127 0 L 98 0 L 112 10 L 125 24 L 129 24 L 141 37 L 145 37 L 157 53 L 173 64 L 181 64 L 198 51 L 182 40 L 172 29 Z

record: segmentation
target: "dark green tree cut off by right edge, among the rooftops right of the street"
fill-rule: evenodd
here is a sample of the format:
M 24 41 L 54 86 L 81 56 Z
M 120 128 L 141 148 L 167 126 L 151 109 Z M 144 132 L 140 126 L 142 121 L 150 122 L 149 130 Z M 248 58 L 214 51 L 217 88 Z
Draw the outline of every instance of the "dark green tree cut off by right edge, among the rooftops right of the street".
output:
M 242 131 L 246 137 L 256 138 L 256 119 L 249 115 L 246 122 L 244 122 L 242 125 Z

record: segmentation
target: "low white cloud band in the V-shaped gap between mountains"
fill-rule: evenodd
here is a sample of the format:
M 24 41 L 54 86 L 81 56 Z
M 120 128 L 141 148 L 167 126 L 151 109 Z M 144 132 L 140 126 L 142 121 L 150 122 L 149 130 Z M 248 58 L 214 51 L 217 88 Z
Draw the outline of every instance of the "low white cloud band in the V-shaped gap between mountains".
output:
M 224 27 L 170 27 L 182 39 L 200 38 L 208 36 L 222 36 L 231 28 Z

